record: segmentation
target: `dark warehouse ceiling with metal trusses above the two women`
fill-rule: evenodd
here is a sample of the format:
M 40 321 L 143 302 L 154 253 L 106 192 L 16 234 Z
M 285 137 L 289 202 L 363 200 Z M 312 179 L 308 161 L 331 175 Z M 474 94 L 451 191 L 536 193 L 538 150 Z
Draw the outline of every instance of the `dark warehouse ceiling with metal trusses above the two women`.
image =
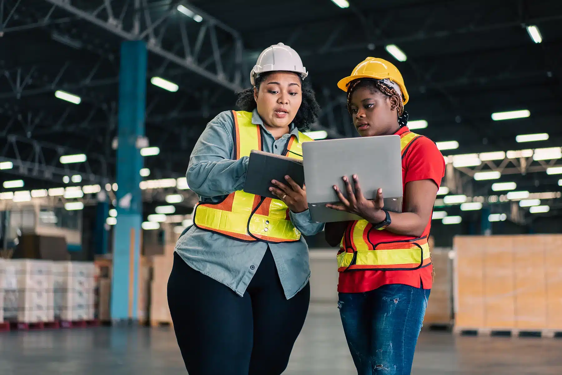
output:
M 114 178 L 119 43 L 138 35 L 149 46 L 146 135 L 161 150 L 145 158 L 151 178 L 185 173 L 207 122 L 234 109 L 234 91 L 247 87 L 262 49 L 278 42 L 300 53 L 323 106 L 318 128 L 332 137 L 355 136 L 337 81 L 374 56 L 401 70 L 410 120 L 428 123 L 417 131 L 459 143 L 444 155 L 560 146 L 562 2 L 348 1 L 339 8 L 330 0 L 0 0 L 3 156 L 50 164 L 61 154 L 83 152 L 85 174 Z M 542 43 L 533 42 L 527 25 L 538 26 Z M 388 44 L 407 60 L 396 61 Z M 152 85 L 152 76 L 179 90 Z M 57 89 L 80 96 L 80 104 L 59 100 Z M 531 115 L 491 119 L 511 110 Z M 549 139 L 515 142 L 529 133 Z M 2 172 L 27 174 L 38 185 L 59 178 L 32 176 L 30 168 Z M 509 179 L 529 191 L 559 190 L 556 175 L 543 169 Z M 470 189 L 487 195 L 492 182 L 471 181 Z

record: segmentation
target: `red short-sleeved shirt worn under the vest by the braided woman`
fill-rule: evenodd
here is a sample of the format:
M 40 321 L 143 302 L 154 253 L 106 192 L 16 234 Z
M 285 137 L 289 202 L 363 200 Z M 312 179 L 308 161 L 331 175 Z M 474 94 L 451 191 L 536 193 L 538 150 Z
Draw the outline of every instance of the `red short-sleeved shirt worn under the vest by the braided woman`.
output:
M 401 135 L 409 129 L 403 126 L 395 134 Z M 445 175 L 445 160 L 433 141 L 426 137 L 420 137 L 411 144 L 402 159 L 402 181 L 404 188 L 406 183 L 418 180 L 433 180 L 439 187 L 441 179 Z M 431 228 L 431 218 L 425 227 L 423 236 L 429 236 Z M 373 233 L 373 232 L 371 232 Z M 403 241 L 415 237 L 403 236 L 389 231 L 374 231 L 371 236 L 375 236 L 376 241 Z M 342 293 L 361 293 L 375 290 L 386 284 L 405 284 L 419 288 L 423 284 L 424 289 L 430 289 L 433 283 L 433 266 L 427 266 L 411 271 L 370 271 L 354 270 L 350 272 L 340 272 L 338 282 L 338 292 Z

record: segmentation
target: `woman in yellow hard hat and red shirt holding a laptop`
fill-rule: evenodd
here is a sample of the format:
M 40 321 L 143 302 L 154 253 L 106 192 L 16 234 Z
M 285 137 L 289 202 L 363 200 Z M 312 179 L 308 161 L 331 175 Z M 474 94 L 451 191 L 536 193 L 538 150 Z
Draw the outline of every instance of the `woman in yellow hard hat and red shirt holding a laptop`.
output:
M 400 214 L 384 209 L 381 189 L 363 196 L 360 176 L 343 177 L 346 192 L 334 186 L 341 202 L 328 207 L 362 218 L 325 226 L 328 243 L 341 246 L 338 307 L 359 375 L 406 375 L 432 287 L 427 240 L 445 162 L 436 144 L 408 129 L 409 97 L 396 66 L 368 57 L 338 87 L 361 137 L 400 135 L 404 183 Z

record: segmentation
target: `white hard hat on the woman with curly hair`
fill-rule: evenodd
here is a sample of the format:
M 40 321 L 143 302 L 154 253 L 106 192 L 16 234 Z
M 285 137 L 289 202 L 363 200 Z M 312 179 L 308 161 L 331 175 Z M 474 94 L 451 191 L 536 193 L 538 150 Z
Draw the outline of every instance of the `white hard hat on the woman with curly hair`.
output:
M 300 74 L 302 79 L 309 75 L 306 68 L 302 66 L 302 60 L 297 51 L 283 43 L 277 43 L 260 53 L 256 65 L 250 72 L 250 83 L 256 84 L 258 74 L 277 70 L 294 71 L 294 73 Z

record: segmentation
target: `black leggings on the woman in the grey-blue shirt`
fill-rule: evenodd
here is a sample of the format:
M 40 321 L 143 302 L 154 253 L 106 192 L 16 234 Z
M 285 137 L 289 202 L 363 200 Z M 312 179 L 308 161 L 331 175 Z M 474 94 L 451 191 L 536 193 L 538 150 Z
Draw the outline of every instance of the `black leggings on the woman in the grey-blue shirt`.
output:
M 279 375 L 309 301 L 308 283 L 285 298 L 269 249 L 243 297 L 174 253 L 168 304 L 189 375 Z

